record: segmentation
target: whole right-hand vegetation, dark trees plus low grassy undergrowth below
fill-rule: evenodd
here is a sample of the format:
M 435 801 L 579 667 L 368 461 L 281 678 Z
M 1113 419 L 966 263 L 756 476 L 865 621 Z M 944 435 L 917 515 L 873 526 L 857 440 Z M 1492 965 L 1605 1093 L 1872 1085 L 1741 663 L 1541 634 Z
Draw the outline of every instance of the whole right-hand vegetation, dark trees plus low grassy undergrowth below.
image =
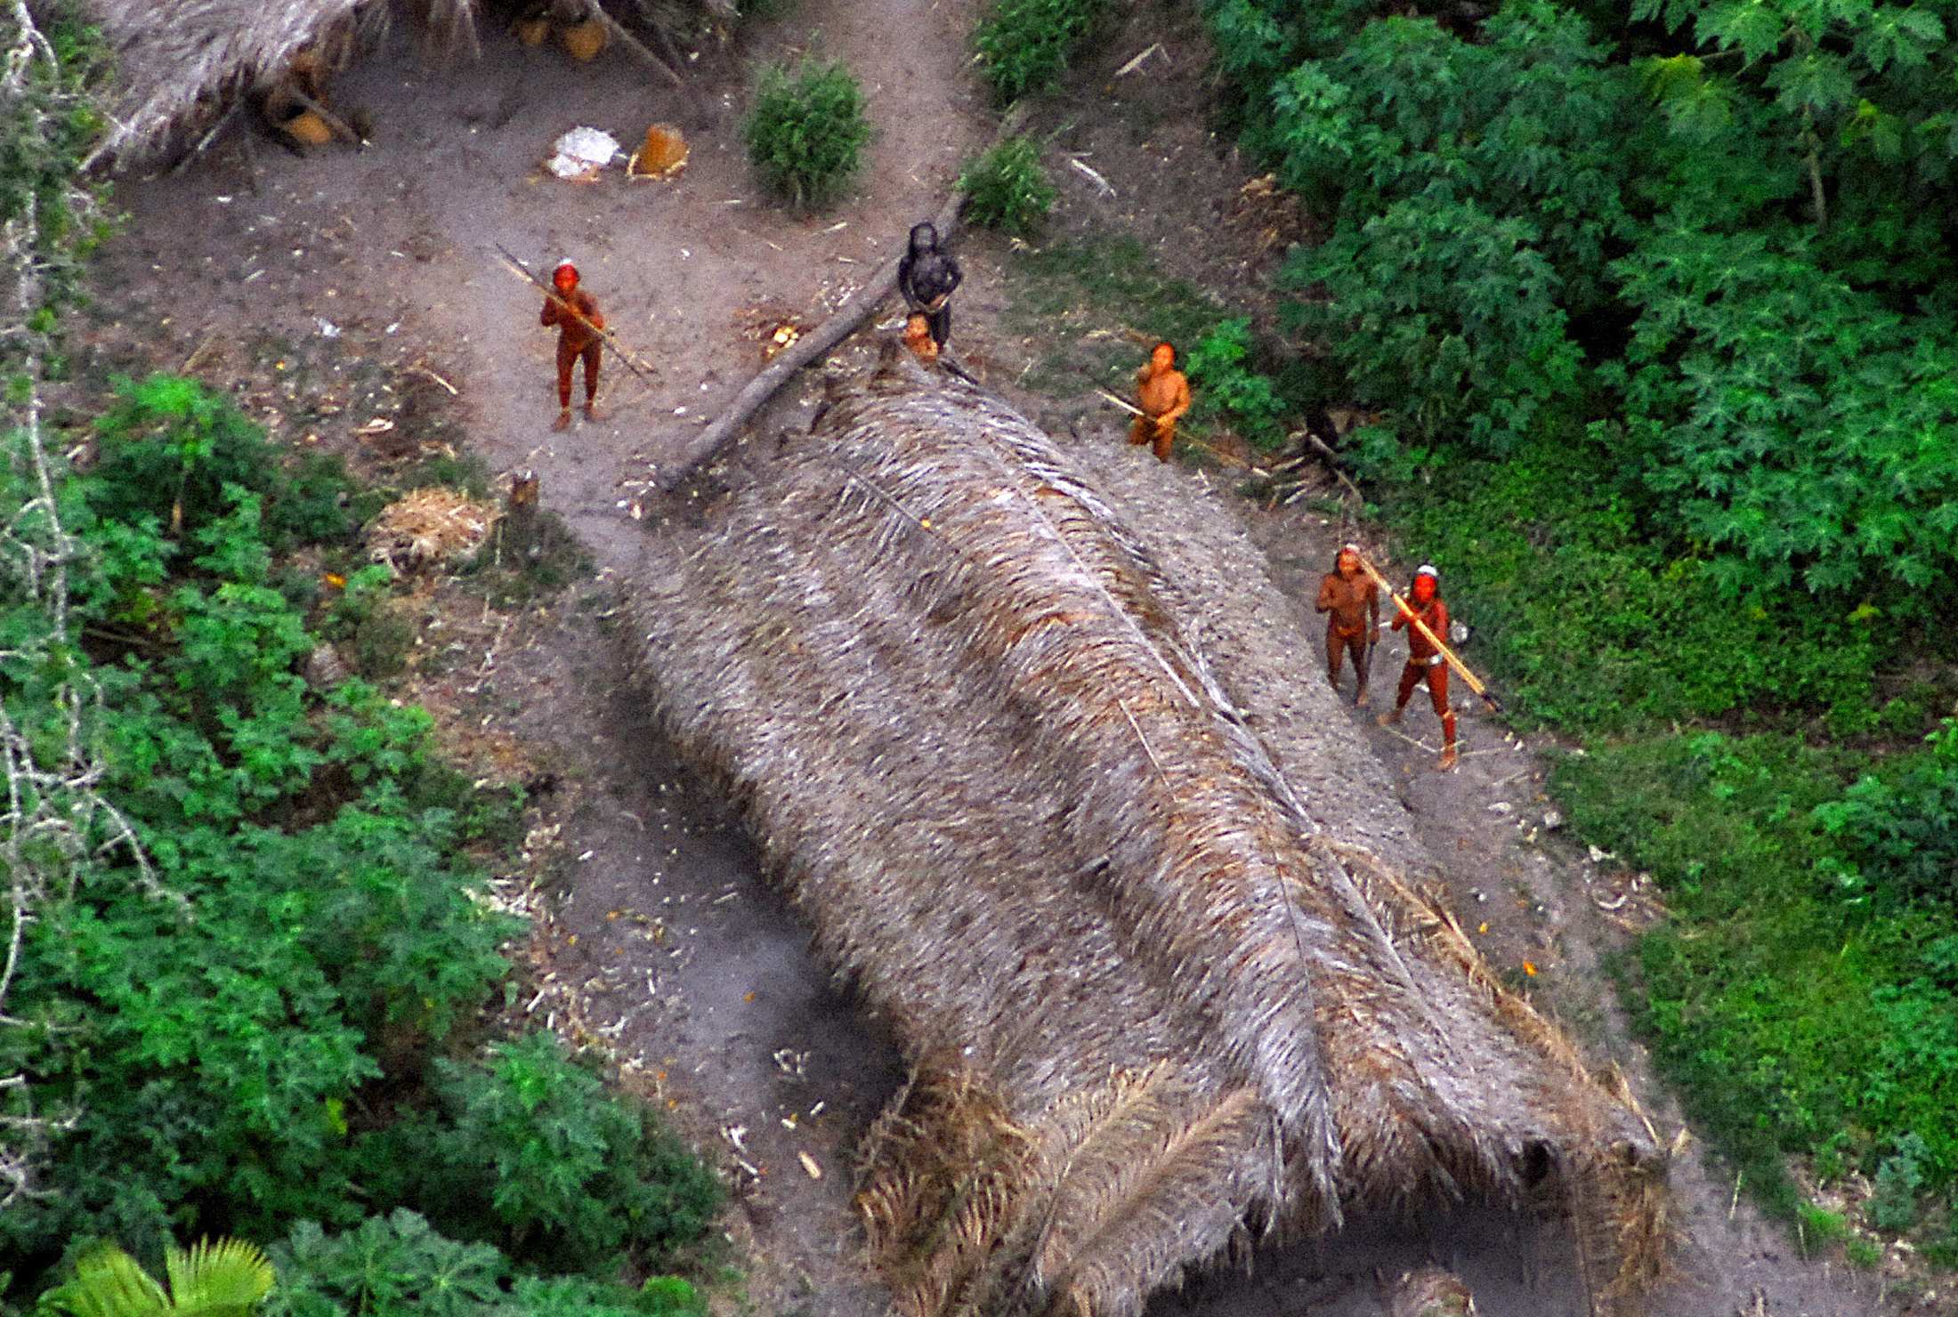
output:
M 1279 292 L 1339 378 L 1281 399 L 1384 413 L 1378 511 L 1592 738 L 1557 791 L 1664 886 L 1625 982 L 1682 1100 L 1958 1260 L 1958 732 L 1899 748 L 1958 710 L 1958 0 L 1202 8 L 1328 233 Z

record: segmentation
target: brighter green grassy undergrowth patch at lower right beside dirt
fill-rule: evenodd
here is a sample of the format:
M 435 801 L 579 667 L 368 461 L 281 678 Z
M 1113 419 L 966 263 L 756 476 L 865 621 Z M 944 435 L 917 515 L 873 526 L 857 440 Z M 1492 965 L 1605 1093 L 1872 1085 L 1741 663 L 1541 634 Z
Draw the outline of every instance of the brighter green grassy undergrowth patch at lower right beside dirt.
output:
M 1553 775 L 1578 834 L 1664 890 L 1627 1000 L 1696 1123 L 1774 1209 L 1801 1203 L 1795 1155 L 1825 1184 L 1864 1172 L 1872 1225 L 1923 1225 L 1931 1245 L 1958 1184 L 1958 890 L 1950 869 L 1915 886 L 1886 828 L 1844 822 L 1842 802 L 1909 814 L 1933 779 L 1958 793 L 1954 746 L 1946 724 L 1878 765 L 1703 730 L 1594 746 Z M 1936 826 L 1950 845 L 1958 812 Z

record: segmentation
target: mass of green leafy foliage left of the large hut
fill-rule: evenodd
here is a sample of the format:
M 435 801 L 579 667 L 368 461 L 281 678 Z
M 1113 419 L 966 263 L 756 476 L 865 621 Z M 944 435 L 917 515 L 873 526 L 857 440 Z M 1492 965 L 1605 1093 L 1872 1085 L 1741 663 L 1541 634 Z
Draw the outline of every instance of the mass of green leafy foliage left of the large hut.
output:
M 296 671 L 333 609 L 276 554 L 350 548 L 345 474 L 284 462 L 186 380 L 117 399 L 94 468 L 55 472 L 65 630 L 31 577 L 0 577 L 0 697 L 49 755 L 70 728 L 94 748 L 147 863 L 84 865 L 25 930 L 0 1072 L 70 1123 L 0 1252 L 31 1282 L 90 1237 L 155 1258 L 401 1205 L 503 1268 L 677 1258 L 713 1174 L 556 1039 L 484 1055 L 521 926 L 470 853 L 521 800 L 446 769 L 419 708 Z M 37 489 L 16 434 L 0 524 L 33 524 Z

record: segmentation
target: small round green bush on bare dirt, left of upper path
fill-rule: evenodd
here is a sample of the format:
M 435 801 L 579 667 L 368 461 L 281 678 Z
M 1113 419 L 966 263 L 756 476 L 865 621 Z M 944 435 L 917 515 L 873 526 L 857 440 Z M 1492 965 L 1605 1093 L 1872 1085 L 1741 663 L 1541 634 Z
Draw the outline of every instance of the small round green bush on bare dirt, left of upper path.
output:
M 863 164 L 871 137 L 863 88 L 840 63 L 813 55 L 793 68 L 768 65 L 742 135 L 762 186 L 795 209 L 820 209 Z

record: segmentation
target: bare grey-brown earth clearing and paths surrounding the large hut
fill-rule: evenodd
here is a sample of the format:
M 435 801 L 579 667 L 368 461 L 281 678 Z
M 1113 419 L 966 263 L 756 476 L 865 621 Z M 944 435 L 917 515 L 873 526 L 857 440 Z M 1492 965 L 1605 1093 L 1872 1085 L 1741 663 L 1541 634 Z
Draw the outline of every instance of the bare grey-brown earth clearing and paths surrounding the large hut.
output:
M 691 100 L 623 55 L 574 68 L 490 33 L 482 63 L 429 68 L 396 37 L 337 88 L 345 104 L 374 112 L 368 151 L 296 160 L 233 135 L 180 174 L 125 180 L 117 202 L 129 225 L 104 260 L 104 305 L 121 321 L 102 325 L 96 348 L 125 368 L 180 368 L 194 356 L 215 384 L 247 387 L 266 356 L 311 362 L 311 387 L 337 409 L 298 407 L 256 386 L 247 405 L 294 442 L 368 460 L 386 456 L 382 446 L 413 456 L 460 427 L 497 472 L 535 468 L 546 507 L 597 562 L 597 581 L 550 609 L 460 640 L 425 636 L 466 661 L 423 681 L 417 697 L 456 728 L 511 738 L 533 771 L 562 783 L 531 834 L 550 898 L 535 947 L 540 990 L 527 1006 L 611 1051 L 625 1082 L 662 1102 L 726 1168 L 736 1188 L 726 1225 L 748 1270 L 744 1288 L 723 1295 L 730 1311 L 881 1311 L 852 1260 L 850 1149 L 901 1068 L 811 961 L 805 931 L 719 802 L 650 728 L 611 605 L 632 589 L 642 536 L 658 534 L 670 511 L 646 493 L 648 464 L 668 460 L 760 364 L 752 329 L 820 319 L 912 219 L 936 209 L 959 159 L 991 131 L 965 68 L 969 25 L 971 0 L 805 0 L 750 29 L 740 49 L 699 61 Z M 1138 29 L 1100 45 L 1042 110 L 1042 129 L 1057 133 L 1055 233 L 1136 233 L 1175 274 L 1255 301 L 1237 284 L 1271 252 L 1228 223 L 1253 170 L 1202 119 L 1200 39 L 1171 29 L 1167 63 L 1155 57 L 1147 72 L 1114 76 L 1151 39 Z M 803 47 L 858 72 L 879 125 L 858 198 L 815 219 L 760 200 L 738 137 L 746 67 Z M 572 125 L 632 145 L 658 119 L 681 123 L 693 143 L 676 182 L 613 174 L 574 186 L 538 170 Z M 1065 166 L 1063 149 L 1085 153 L 1116 196 Z M 488 243 L 538 270 L 578 260 L 617 333 L 658 368 L 656 384 L 611 364 L 603 421 L 550 434 L 552 341 L 535 327 L 538 297 L 497 268 Z M 999 331 L 1010 247 L 973 237 L 961 258 L 956 346 L 1032 415 L 1051 413 L 1055 399 L 1012 389 L 1038 344 Z M 844 356 L 862 352 L 860 341 Z M 756 432 L 797 423 L 809 393 L 777 401 Z M 1073 413 L 1087 415 L 1079 399 Z M 376 417 L 394 429 L 376 431 Z M 1116 419 L 1091 417 L 1079 432 L 1091 444 L 1120 438 Z M 1253 524 L 1281 583 L 1304 601 L 1349 532 L 1326 513 L 1292 509 Z M 1306 624 L 1316 630 L 1310 614 Z M 1310 650 L 1300 679 L 1316 681 Z M 1376 708 L 1396 669 L 1398 650 L 1382 654 Z M 1653 1094 L 1598 969 L 1598 951 L 1619 935 L 1600 906 L 1627 894 L 1631 875 L 1588 863 L 1541 826 L 1541 746 L 1506 740 L 1468 708 L 1463 767 L 1435 775 L 1435 724 L 1420 701 L 1404 730 L 1425 746 L 1361 714 L 1353 730 L 1398 773 L 1402 804 L 1441 863 L 1431 877 L 1468 928 L 1488 926 L 1490 961 L 1515 976 L 1527 976 L 1529 961 L 1539 1000 Z M 1639 906 L 1633 892 L 1615 916 Z M 1656 1094 L 1649 1102 L 1666 1110 Z M 1878 1274 L 1797 1258 L 1778 1227 L 1731 1203 L 1731 1182 L 1698 1155 L 1676 1184 L 1682 1284 L 1656 1297 L 1656 1315 L 1954 1311 L 1931 1295 L 1909 1309 L 1884 1297 Z M 1269 1250 L 1249 1276 L 1198 1278 L 1149 1311 L 1371 1317 L 1382 1311 L 1376 1276 L 1427 1256 L 1457 1266 L 1482 1311 L 1584 1311 L 1555 1227 L 1468 1211 L 1357 1223 L 1335 1241 Z

